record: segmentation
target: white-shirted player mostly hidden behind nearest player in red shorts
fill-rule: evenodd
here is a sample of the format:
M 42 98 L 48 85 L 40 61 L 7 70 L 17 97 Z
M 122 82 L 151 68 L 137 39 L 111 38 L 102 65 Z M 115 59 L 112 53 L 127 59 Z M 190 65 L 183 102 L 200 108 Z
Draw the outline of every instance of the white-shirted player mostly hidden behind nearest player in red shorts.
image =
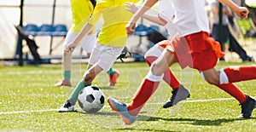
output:
M 174 10 L 172 8 L 166 8 L 166 5 L 171 4 L 170 0 L 160 0 L 158 7 L 158 16 L 154 14 L 143 14 L 143 18 L 159 24 L 160 26 L 165 26 L 170 39 L 177 34 L 177 30 L 172 26 L 172 20 L 174 19 Z M 137 12 L 137 6 L 134 3 L 126 3 L 126 10 L 129 10 L 132 14 Z M 151 49 L 148 49 L 144 55 L 145 61 L 148 63 L 148 66 L 160 57 L 163 50 L 168 46 L 169 41 L 164 40 L 160 43 L 155 44 Z M 164 72 L 163 80 L 169 84 L 172 88 L 172 97 L 164 104 L 164 108 L 176 105 L 179 101 L 185 100 L 189 97 L 189 90 L 186 89 L 177 78 L 173 75 L 171 69 L 167 69 Z

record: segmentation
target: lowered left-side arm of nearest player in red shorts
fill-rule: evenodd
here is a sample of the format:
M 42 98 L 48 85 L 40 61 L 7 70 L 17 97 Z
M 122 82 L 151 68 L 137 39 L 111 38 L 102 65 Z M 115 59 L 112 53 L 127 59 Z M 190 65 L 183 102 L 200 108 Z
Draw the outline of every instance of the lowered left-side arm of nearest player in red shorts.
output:
M 128 34 L 133 34 L 135 32 L 135 26 L 136 26 L 136 22 L 137 20 L 148 10 L 150 9 L 155 3 L 157 3 L 158 0 L 146 0 L 143 3 L 143 6 L 138 9 L 138 11 L 133 14 L 133 16 L 131 17 L 131 20 L 128 22 L 127 26 L 126 26 L 126 32 Z

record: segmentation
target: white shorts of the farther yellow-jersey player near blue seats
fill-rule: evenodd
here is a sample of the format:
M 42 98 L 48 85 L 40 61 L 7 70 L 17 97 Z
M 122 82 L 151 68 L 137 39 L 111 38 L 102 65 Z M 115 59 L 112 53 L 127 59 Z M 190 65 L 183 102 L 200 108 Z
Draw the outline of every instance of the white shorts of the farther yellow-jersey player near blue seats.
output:
M 77 37 L 78 35 L 72 31 L 68 31 L 67 32 L 67 36 L 65 38 L 65 42 L 64 42 L 64 46 L 66 47 L 69 43 L 71 43 L 73 41 L 73 39 L 75 37 Z M 88 54 L 91 53 L 94 44 L 96 43 L 96 34 L 92 34 L 92 35 L 86 35 L 85 37 L 83 37 L 83 39 L 80 41 L 79 45 L 77 48 L 82 47 L 82 49 L 84 49 L 84 51 Z

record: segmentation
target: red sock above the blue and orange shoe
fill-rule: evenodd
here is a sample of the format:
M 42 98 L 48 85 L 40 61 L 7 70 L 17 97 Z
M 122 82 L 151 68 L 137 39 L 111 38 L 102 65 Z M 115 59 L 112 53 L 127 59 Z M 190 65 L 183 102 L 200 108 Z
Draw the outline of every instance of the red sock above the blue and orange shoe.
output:
M 128 105 L 128 111 L 132 116 L 137 116 L 149 97 L 154 94 L 159 84 L 160 82 L 152 82 L 144 78 L 143 83 L 139 89 L 137 89 L 131 103 Z

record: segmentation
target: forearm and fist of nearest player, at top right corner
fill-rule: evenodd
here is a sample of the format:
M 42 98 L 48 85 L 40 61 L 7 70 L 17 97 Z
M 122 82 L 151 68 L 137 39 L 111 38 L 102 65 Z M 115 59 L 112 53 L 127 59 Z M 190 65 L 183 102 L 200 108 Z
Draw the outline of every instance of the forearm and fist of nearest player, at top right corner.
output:
M 233 10 L 237 16 L 246 19 L 249 13 L 248 9 L 245 7 L 239 7 L 236 3 L 231 0 L 218 0 L 218 2 L 223 3 L 228 6 L 231 10 Z

